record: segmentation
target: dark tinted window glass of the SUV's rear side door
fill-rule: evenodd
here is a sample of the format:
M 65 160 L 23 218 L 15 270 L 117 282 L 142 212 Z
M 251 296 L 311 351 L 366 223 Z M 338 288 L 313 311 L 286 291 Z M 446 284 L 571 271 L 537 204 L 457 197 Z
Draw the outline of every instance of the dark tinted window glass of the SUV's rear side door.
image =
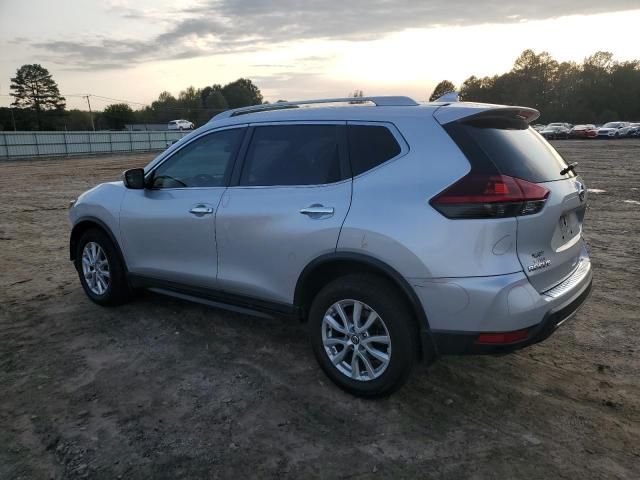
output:
M 241 185 L 320 185 L 342 178 L 337 125 L 256 127 Z

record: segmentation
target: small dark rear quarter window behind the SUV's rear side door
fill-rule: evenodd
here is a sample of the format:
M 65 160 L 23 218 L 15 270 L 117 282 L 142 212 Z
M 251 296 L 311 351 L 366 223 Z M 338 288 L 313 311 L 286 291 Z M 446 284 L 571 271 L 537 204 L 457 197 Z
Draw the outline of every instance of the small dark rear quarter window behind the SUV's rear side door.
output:
M 349 125 L 349 159 L 353 175 L 371 170 L 400 153 L 400 145 L 387 127 Z

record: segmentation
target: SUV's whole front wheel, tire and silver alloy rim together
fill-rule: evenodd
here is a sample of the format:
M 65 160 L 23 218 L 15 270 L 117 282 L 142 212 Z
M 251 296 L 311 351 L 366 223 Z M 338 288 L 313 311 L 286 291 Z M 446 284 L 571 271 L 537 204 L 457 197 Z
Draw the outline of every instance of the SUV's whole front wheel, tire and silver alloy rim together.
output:
M 106 233 L 85 232 L 78 242 L 75 265 L 87 296 L 99 305 L 120 305 L 130 297 L 120 255 Z

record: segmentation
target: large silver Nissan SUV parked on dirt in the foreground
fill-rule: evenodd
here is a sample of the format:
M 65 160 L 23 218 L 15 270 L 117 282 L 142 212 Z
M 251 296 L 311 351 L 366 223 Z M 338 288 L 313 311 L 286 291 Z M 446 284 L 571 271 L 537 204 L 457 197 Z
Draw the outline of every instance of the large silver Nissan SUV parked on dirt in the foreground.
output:
M 71 260 L 101 305 L 148 288 L 300 319 L 331 380 L 388 394 L 419 359 L 539 342 L 588 296 L 586 189 L 537 117 L 406 97 L 227 111 L 82 194 Z

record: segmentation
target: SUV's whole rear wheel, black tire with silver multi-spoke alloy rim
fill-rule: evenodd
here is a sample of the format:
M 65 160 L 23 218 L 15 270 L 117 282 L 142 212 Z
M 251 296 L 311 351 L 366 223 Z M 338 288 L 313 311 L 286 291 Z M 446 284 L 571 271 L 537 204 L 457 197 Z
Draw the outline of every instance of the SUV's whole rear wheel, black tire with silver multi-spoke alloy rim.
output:
M 309 312 L 309 335 L 326 375 L 347 392 L 388 395 L 401 387 L 417 358 L 413 317 L 392 284 L 349 275 L 326 287 Z

